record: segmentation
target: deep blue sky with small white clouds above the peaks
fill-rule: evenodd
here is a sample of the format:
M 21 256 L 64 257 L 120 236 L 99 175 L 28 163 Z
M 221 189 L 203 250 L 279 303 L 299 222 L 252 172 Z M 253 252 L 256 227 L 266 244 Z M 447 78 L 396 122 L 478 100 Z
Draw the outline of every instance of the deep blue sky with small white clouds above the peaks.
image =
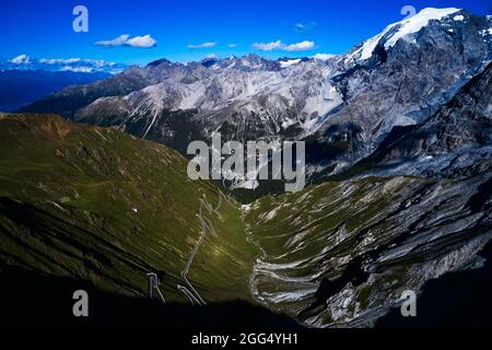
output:
M 89 10 L 89 33 L 72 30 L 72 10 L 79 4 Z M 2 0 L 0 56 L 81 57 L 143 65 L 163 57 L 189 61 L 207 55 L 251 51 L 272 58 L 340 54 L 402 20 L 405 5 L 417 11 L 454 7 L 477 14 L 492 12 L 491 0 Z M 127 39 L 150 35 L 156 45 L 94 45 L 124 34 L 130 35 Z M 273 44 L 277 50 L 262 51 L 260 45 L 254 46 L 277 40 L 281 40 Z M 203 43 L 212 44 L 198 48 Z

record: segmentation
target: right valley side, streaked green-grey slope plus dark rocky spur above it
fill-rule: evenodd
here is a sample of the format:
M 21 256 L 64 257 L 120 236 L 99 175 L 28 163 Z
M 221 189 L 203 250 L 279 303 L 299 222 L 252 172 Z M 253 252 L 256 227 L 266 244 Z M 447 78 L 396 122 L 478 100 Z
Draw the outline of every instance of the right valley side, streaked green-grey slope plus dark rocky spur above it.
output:
M 367 326 L 403 291 L 480 267 L 492 238 L 491 82 L 489 65 L 382 143 L 366 160 L 376 168 L 359 178 L 254 202 L 245 221 L 262 252 L 256 299 L 316 327 Z

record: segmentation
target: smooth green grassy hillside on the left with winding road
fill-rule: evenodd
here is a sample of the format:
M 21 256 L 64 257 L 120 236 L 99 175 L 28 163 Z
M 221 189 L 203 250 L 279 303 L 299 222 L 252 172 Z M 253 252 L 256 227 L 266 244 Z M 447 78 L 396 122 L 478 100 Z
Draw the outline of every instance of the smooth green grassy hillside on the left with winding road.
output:
M 0 116 L 0 269 L 72 277 L 129 295 L 147 293 L 149 271 L 176 289 L 208 232 L 188 279 L 206 301 L 250 300 L 256 248 L 246 242 L 238 205 L 191 182 L 187 161 L 127 133 L 71 124 L 54 115 Z

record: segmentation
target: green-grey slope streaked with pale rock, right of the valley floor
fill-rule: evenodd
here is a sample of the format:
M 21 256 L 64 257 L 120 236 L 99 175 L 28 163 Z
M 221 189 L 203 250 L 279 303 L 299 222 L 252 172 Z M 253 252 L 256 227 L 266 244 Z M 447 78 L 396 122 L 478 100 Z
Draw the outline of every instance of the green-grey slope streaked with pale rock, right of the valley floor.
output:
M 480 265 L 491 177 L 489 164 L 466 180 L 370 177 L 262 198 L 245 219 L 262 252 L 251 292 L 311 326 L 373 325 L 403 291 Z

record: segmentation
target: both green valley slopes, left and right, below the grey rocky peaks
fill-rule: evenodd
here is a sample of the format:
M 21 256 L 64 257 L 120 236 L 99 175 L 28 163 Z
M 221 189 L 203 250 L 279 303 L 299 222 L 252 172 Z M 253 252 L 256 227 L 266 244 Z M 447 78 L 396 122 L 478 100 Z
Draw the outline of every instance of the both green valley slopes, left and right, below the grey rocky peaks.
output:
M 190 180 L 187 160 L 164 145 L 0 115 L 0 277 L 125 298 L 145 295 L 155 271 L 172 302 L 192 285 L 210 304 L 257 301 L 312 326 L 374 324 L 403 290 L 482 264 L 492 171 L 481 165 L 459 179 L 328 182 L 242 211 L 213 182 Z

